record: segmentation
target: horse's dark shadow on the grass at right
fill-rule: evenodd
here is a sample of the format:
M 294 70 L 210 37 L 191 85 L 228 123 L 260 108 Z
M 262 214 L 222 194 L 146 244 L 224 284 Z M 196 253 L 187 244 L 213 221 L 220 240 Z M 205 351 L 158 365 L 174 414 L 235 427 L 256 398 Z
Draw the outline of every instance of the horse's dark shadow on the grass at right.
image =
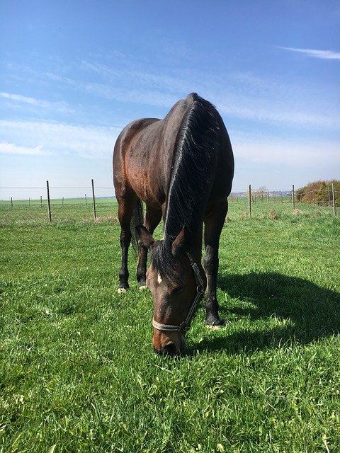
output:
M 251 352 L 293 342 L 308 344 L 340 332 L 339 292 L 308 280 L 249 273 L 219 276 L 217 287 L 232 298 L 220 309 L 222 319 L 231 323 L 216 335 L 203 336 L 196 350 Z

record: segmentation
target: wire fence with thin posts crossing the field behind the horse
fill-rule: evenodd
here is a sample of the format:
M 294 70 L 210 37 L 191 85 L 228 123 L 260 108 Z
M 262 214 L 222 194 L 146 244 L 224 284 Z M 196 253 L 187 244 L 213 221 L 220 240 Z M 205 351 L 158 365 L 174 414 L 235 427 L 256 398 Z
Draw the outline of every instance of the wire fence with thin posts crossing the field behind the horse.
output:
M 6 190 L 7 194 L 20 194 L 20 197 L 7 196 L 7 200 L 0 200 L 2 212 L 9 210 L 10 212 L 18 211 L 20 214 L 20 211 L 29 209 L 30 214 L 34 217 L 35 213 L 45 216 L 45 210 L 47 210 L 49 222 L 62 216 L 72 217 L 72 212 L 74 212 L 75 218 L 94 219 L 114 217 L 117 212 L 113 186 L 95 186 L 94 180 L 91 180 L 91 185 L 84 187 L 50 186 L 49 181 L 46 181 L 45 187 L 2 187 L 1 191 L 3 190 Z M 22 197 L 23 194 L 28 196 Z M 231 193 L 229 202 L 246 204 L 248 217 L 254 214 L 257 206 L 270 204 L 276 205 L 276 207 L 290 205 L 293 214 L 300 209 L 301 205 L 328 207 L 336 215 L 336 208 L 340 205 L 340 192 L 334 189 L 334 184 L 327 189 L 297 191 L 297 193 L 295 193 L 294 185 L 291 190 L 251 190 L 251 185 L 249 185 L 249 190 L 244 193 Z M 259 211 L 259 208 L 257 210 Z

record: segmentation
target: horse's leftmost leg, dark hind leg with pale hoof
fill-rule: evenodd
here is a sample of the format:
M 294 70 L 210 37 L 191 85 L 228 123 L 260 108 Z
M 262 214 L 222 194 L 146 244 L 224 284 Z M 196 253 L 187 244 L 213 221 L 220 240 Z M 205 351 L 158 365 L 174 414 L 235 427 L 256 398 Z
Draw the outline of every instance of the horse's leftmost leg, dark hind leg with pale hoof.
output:
M 131 242 L 130 223 L 135 200 L 118 199 L 118 219 L 120 223 L 120 248 L 122 251 L 122 267 L 119 273 L 118 292 L 129 289 L 128 251 Z

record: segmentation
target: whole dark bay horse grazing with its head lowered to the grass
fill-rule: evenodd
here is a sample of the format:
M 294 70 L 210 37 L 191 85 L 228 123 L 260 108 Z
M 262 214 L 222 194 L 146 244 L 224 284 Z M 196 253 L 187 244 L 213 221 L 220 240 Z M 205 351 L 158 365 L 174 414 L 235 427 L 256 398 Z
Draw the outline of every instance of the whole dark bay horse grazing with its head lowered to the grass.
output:
M 218 248 L 233 176 L 232 145 L 222 117 L 197 93 L 178 101 L 163 120 L 130 122 L 115 142 L 122 253 L 118 292 L 129 288 L 132 241 L 138 247 L 137 282 L 152 292 L 152 343 L 159 354 L 185 350 L 185 335 L 204 292 L 206 326 L 223 324 L 216 297 Z M 157 241 L 152 234 L 161 219 L 164 237 Z

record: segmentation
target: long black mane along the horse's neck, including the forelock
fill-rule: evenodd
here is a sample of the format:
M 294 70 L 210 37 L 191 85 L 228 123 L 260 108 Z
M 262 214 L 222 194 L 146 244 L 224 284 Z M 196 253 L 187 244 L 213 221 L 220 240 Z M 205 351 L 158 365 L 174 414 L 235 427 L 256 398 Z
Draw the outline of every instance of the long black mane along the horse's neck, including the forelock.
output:
M 215 107 L 192 93 L 191 105 L 183 116 L 177 135 L 166 200 L 164 241 L 152 253 L 152 263 L 162 278 L 181 282 L 174 270 L 171 246 L 183 226 L 187 242 L 202 231 L 212 170 L 215 168 L 215 145 L 220 130 L 220 115 Z M 188 96 L 188 98 L 189 98 Z

